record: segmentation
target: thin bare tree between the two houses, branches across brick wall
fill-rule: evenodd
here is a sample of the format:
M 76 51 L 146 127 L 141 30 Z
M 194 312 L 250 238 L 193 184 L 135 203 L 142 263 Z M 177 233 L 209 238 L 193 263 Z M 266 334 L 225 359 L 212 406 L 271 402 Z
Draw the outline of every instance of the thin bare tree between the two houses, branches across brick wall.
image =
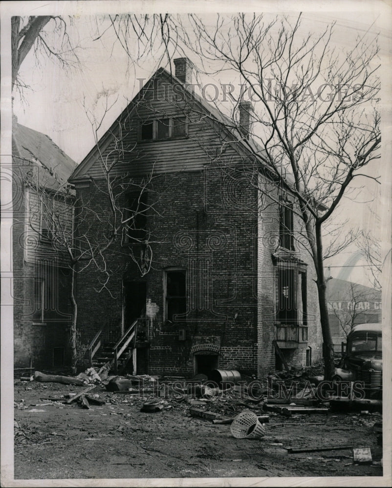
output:
M 109 110 L 106 106 L 105 114 Z M 104 115 L 105 115 L 104 114 Z M 35 202 L 30 208 L 28 224 L 35 233 L 40 233 L 42 216 L 46 219 L 46 227 L 50 228 L 51 246 L 61 253 L 67 260 L 71 270 L 70 301 L 72 304 L 71 321 L 71 362 L 76 370 L 77 363 L 77 315 L 78 305 L 75 294 L 75 278 L 87 267 L 93 266 L 97 270 L 97 293 L 104 290 L 111 294 L 110 278 L 121 270 L 113 266 L 108 259 L 109 248 L 116 242 L 128 241 L 140 244 L 140 255 L 133 253 L 134 246 L 129 247 L 129 256 L 137 265 L 143 276 L 150 271 L 152 265 L 152 232 L 146 227 L 146 215 L 152 217 L 154 206 L 160 196 L 154 194 L 151 198 L 153 172 L 133 178 L 128 172 L 118 171 L 122 163 L 137 160 L 137 151 L 132 144 L 126 142 L 123 132 L 127 117 L 116 121 L 109 131 L 111 144 L 106 149 L 106 138 L 98 140 L 97 132 L 103 118 L 96 121 L 92 114 L 87 114 L 94 129 L 95 150 L 97 162 L 101 168 L 101 178 L 91 179 L 93 191 L 87 198 L 75 195 L 75 191 L 68 182 L 61 181 L 56 174 L 48 175 L 47 171 L 33 171 L 25 177 L 25 184 L 34 193 Z M 37 168 L 42 169 L 42 168 Z M 144 198 L 149 191 L 150 199 Z M 132 195 L 132 200 L 129 195 Z M 97 201 L 100 202 L 97 205 Z M 151 222 L 150 221 L 150 222 Z M 99 278 L 99 276 L 101 278 Z

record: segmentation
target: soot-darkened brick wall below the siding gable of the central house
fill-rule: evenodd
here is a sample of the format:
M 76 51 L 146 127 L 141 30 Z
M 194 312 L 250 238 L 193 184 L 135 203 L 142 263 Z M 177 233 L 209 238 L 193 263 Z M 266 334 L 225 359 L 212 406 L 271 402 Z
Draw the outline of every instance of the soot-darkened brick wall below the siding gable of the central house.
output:
M 121 330 L 123 286 L 133 281 L 146 284 L 146 301 L 156 310 L 150 319 L 150 374 L 192 375 L 197 361 L 208 360 L 203 347 L 198 354 L 203 358 L 195 359 L 192 347 L 204 341 L 207 350 L 211 337 L 218 338 L 218 367 L 256 372 L 255 191 L 237 188 L 242 199 L 239 204 L 232 181 L 216 170 L 166 174 L 154 180 L 149 191 L 159 199 L 147 224 L 155 241 L 151 269 L 141 277 L 129 256 L 130 246 L 137 255 L 137 244 L 116 242 L 106 253 L 109 268 L 117 270 L 108 284 L 110 294 L 107 290 L 96 293 L 99 273 L 93 266 L 78 274 L 81 346 L 88 344 L 103 323 Z M 105 204 L 102 193 L 95 195 L 95 184 L 79 191 L 97 208 Z M 171 298 L 165 280 L 182 272 L 186 309 L 169 320 Z

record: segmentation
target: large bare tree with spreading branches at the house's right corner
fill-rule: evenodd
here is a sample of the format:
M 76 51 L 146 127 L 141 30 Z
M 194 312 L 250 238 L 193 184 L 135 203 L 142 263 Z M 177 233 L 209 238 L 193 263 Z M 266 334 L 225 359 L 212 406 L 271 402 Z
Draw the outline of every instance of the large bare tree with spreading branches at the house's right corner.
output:
M 293 25 L 285 19 L 268 21 L 262 15 L 219 15 L 213 23 L 189 16 L 192 29 L 182 30 L 184 41 L 207 65 L 240 77 L 242 89 L 226 100 L 237 109 L 247 96 L 248 122 L 233 111 L 219 126 L 240 135 L 247 147 L 244 168 L 249 184 L 258 185 L 265 199 L 290 208 L 302 223 L 294 237 L 310 253 L 317 275 L 318 302 L 324 341 L 325 377 L 334 372 L 333 343 L 328 322 L 324 259 L 339 252 L 324 248 L 324 234 L 332 215 L 345 201 L 355 201 L 356 185 L 377 176 L 366 166 L 380 158 L 380 82 L 377 40 L 358 37 L 352 49 L 337 53 L 331 44 L 333 25 L 318 36 L 301 34 L 301 15 Z M 221 60 L 221 63 L 218 62 Z M 233 75 L 233 76 L 234 76 Z M 220 131 L 223 134 L 222 131 Z M 227 131 L 225 132 L 227 134 Z M 251 136 L 251 137 L 249 137 Z M 231 142 L 221 138 L 224 148 Z M 255 178 L 266 176 L 262 184 Z M 266 183 L 267 182 L 267 183 Z M 287 198 L 274 197 L 271 185 Z M 351 239 L 346 242 L 347 245 Z

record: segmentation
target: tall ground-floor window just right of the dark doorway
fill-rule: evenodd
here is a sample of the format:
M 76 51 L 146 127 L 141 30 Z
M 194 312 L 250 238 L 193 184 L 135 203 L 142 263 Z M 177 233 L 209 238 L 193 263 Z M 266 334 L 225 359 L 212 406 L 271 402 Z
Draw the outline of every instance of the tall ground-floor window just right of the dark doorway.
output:
M 165 318 L 169 322 L 184 322 L 186 313 L 186 271 L 165 271 Z

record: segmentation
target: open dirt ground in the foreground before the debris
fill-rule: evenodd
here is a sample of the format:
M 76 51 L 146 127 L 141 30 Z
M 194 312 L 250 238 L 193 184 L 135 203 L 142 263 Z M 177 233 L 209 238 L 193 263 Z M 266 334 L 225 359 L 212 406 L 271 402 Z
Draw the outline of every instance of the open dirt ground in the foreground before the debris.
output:
M 295 415 L 268 413 L 265 436 L 236 439 L 229 425 L 193 418 L 189 401 L 168 399 L 165 409 L 142 413 L 140 398 L 91 393 L 103 406 L 47 405 L 47 397 L 83 386 L 15 381 L 15 479 L 225 478 L 282 476 L 382 476 L 382 447 L 373 432 L 380 414 Z M 206 402 L 211 409 L 214 402 Z M 221 400 L 220 400 L 221 402 Z M 46 404 L 46 405 L 45 405 Z M 215 405 L 216 406 L 216 405 Z M 35 410 L 35 411 L 34 411 Z M 216 411 L 216 409 L 215 409 Z M 353 451 L 290 454 L 284 447 L 370 447 L 373 462 L 353 463 Z

